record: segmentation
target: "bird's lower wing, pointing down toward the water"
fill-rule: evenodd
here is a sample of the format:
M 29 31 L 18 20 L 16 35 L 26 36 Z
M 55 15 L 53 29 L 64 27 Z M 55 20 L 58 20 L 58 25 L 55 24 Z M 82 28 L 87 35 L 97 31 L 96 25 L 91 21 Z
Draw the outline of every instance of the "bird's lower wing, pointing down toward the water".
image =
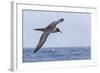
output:
M 42 34 L 42 36 L 39 40 L 39 43 L 38 43 L 37 47 L 34 50 L 34 53 L 36 53 L 43 46 L 43 44 L 45 43 L 48 35 L 49 35 L 49 33 L 45 33 L 45 32 Z

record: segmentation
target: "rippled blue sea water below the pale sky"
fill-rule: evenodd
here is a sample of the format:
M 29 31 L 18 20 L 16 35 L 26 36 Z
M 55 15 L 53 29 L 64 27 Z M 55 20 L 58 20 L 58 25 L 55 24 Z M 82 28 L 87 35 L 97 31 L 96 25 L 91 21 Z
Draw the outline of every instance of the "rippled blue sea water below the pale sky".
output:
M 90 47 L 41 48 L 35 54 L 33 51 L 33 48 L 23 48 L 23 62 L 91 59 Z

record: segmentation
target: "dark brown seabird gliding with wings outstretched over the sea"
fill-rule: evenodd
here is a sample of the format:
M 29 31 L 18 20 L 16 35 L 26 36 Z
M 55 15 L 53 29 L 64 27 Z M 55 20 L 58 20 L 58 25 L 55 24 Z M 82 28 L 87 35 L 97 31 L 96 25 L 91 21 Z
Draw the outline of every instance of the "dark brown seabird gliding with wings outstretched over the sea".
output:
M 43 34 L 40 37 L 39 43 L 36 46 L 34 53 L 36 53 L 45 43 L 45 41 L 47 40 L 47 37 L 50 33 L 56 33 L 56 32 L 61 32 L 59 28 L 56 27 L 57 24 L 63 22 L 64 19 L 61 18 L 57 21 L 53 21 L 51 24 L 49 24 L 46 28 L 38 28 L 38 29 L 34 29 L 37 31 L 42 31 Z M 62 33 L 62 32 L 61 32 Z

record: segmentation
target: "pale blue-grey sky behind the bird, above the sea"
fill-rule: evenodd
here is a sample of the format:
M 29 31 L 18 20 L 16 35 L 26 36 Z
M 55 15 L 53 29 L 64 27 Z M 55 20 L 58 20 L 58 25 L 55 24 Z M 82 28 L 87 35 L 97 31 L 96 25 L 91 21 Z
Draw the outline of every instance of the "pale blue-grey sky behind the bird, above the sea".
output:
M 43 47 L 86 47 L 91 45 L 91 14 L 23 10 L 23 48 L 36 47 L 42 35 L 33 29 L 44 28 L 64 18 L 57 25 L 62 33 L 51 33 Z

